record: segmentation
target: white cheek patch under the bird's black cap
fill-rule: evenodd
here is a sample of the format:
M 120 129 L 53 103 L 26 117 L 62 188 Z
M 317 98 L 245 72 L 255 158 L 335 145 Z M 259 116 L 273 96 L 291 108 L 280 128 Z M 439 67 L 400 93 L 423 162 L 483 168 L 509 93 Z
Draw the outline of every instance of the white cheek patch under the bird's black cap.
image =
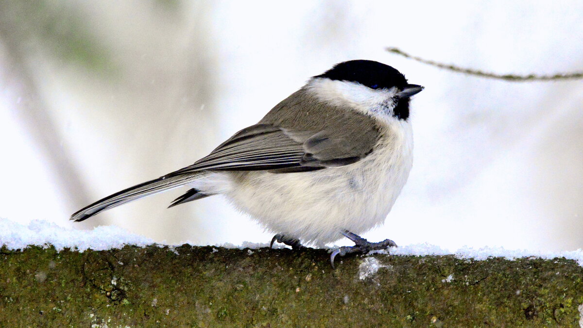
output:
M 364 114 L 392 115 L 394 97 L 398 90 L 373 90 L 356 82 L 314 77 L 305 87 L 308 92 L 331 105 L 349 106 Z

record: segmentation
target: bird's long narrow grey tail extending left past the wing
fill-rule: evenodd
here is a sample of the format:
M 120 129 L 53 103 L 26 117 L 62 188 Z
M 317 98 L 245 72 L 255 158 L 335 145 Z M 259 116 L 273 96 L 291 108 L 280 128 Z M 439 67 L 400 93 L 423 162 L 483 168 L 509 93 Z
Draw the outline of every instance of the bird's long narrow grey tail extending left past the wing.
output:
M 83 221 L 97 213 L 100 213 L 101 211 L 111 209 L 115 206 L 120 206 L 121 204 L 129 203 L 133 200 L 153 195 L 154 193 L 180 187 L 182 185 L 188 184 L 188 182 L 192 182 L 201 178 L 202 174 L 203 172 L 197 172 L 197 174 L 191 173 L 178 175 L 175 177 L 166 176 L 143 182 L 142 184 L 124 189 L 120 192 L 116 192 L 113 195 L 107 196 L 103 199 L 97 200 L 97 202 L 93 204 L 83 207 L 83 209 L 80 209 L 71 216 L 71 220 Z

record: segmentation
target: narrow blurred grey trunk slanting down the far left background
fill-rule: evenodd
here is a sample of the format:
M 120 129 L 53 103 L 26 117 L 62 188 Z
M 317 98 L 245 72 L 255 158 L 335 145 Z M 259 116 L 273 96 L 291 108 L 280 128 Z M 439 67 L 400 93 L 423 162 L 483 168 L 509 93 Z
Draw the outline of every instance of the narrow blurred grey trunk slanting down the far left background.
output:
M 39 22 L 40 17 L 30 12 L 27 9 L 29 7 L 23 3 L 0 1 L 3 82 L 5 87 L 15 89 L 18 99 L 15 105 L 17 122 L 44 158 L 47 171 L 52 172 L 52 181 L 60 189 L 65 202 L 89 203 L 90 198 L 83 184 L 82 175 L 79 174 L 79 168 L 73 164 L 70 150 L 62 143 L 61 133 L 50 115 L 51 108 L 40 91 L 41 87 L 38 84 L 40 82 L 36 79 L 34 66 L 30 63 L 29 52 L 37 51 L 30 46 L 31 39 L 35 37 L 34 27 L 44 22 Z M 33 6 L 41 5 L 31 3 L 30 7 Z M 36 31 L 39 32 L 41 31 Z M 50 43 L 51 40 L 45 42 Z M 31 193 L 34 193 L 34 189 Z M 34 195 L 36 196 L 41 197 Z

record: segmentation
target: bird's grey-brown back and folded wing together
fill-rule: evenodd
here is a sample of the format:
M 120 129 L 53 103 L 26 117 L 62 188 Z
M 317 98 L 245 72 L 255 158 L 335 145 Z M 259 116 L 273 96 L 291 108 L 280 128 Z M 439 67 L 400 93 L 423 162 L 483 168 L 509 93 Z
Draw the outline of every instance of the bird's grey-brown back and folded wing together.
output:
M 235 133 L 208 156 L 167 177 L 201 170 L 286 173 L 339 167 L 366 157 L 379 136 L 373 118 L 326 104 L 300 89 L 259 124 Z

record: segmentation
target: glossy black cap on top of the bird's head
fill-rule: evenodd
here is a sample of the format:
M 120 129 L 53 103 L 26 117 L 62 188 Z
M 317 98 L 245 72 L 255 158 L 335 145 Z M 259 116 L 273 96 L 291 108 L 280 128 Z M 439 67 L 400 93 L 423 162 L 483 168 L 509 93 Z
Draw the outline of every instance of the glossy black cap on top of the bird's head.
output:
M 375 61 L 347 61 L 336 64 L 323 74 L 314 77 L 328 77 L 331 80 L 352 81 L 371 89 L 398 87 L 402 90 L 407 79 L 398 70 Z

